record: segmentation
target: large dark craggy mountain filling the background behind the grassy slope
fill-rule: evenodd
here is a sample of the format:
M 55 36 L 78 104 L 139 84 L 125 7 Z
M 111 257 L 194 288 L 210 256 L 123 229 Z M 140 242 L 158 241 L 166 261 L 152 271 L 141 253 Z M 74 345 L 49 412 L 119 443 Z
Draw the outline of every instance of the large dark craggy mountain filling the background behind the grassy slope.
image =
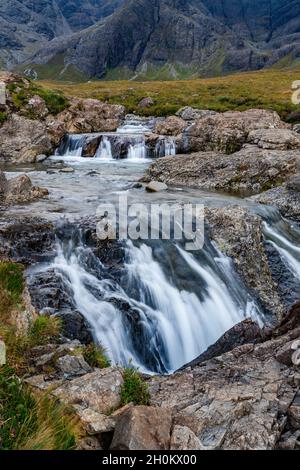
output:
M 185 78 L 283 67 L 300 58 L 299 0 L 44 3 L 59 8 L 52 31 L 59 37 L 22 65 L 40 78 Z M 83 4 L 90 5 L 86 13 Z

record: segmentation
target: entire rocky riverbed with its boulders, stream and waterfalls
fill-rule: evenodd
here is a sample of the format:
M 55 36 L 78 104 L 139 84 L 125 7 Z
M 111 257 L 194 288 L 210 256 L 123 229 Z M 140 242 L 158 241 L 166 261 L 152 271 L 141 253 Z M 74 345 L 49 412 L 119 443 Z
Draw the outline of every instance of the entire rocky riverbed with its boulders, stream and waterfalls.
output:
M 37 96 L 17 109 L 14 93 L 0 128 L 0 258 L 26 267 L 21 328 L 37 315 L 63 325 L 31 351 L 26 383 L 72 405 L 81 449 L 299 448 L 299 134 L 271 111 L 185 108 L 145 132 L 151 148 L 172 137 L 177 156 L 46 158 L 67 133 L 116 130 L 125 110 L 74 100 L 53 116 Z M 97 207 L 120 194 L 204 204 L 203 250 L 101 242 Z M 92 341 L 110 367 L 80 354 Z M 122 407 L 128 364 L 149 406 Z

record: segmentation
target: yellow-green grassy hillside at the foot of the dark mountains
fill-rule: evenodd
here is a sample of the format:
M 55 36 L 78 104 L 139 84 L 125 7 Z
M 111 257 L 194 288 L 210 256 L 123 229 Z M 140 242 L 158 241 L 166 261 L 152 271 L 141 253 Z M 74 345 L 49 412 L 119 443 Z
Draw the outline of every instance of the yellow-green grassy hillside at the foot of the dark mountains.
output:
M 128 112 L 163 116 L 174 114 L 182 106 L 209 108 L 215 111 L 272 108 L 284 118 L 300 113 L 291 102 L 292 82 L 300 80 L 300 68 L 264 70 L 225 77 L 184 81 L 91 81 L 85 83 L 40 81 L 47 89 L 63 91 L 67 96 L 98 98 L 123 104 Z M 139 108 L 142 98 L 151 97 L 154 104 Z

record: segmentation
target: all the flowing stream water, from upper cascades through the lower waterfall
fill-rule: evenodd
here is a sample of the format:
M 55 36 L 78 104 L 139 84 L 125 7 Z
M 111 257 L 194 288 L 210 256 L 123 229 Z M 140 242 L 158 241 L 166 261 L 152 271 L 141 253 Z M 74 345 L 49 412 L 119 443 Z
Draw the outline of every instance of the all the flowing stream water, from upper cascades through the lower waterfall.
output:
M 258 299 L 208 236 L 198 252 L 185 251 L 180 241 L 127 242 L 121 275 L 114 277 L 80 235 L 76 220 L 94 215 L 100 202 L 117 204 L 120 194 L 126 194 L 129 203 L 245 205 L 263 218 L 266 244 L 297 284 L 300 231 L 275 209 L 250 200 L 186 188 L 158 194 L 135 188 L 134 183 L 149 165 L 141 148 L 143 133 L 144 128 L 135 133 L 137 141 L 129 147 L 125 160 L 114 159 L 106 135 L 101 136 L 95 158 L 82 158 L 79 149 L 86 136 L 73 136 L 64 143 L 63 155 L 61 147 L 60 155 L 44 165 L 22 168 L 34 184 L 50 190 L 48 200 L 30 205 L 30 214 L 58 225 L 63 219 L 78 232 L 70 237 L 69 231 L 59 231 L 56 256 L 47 265 L 32 267 L 28 276 L 51 269 L 60 273 L 76 309 L 88 320 L 95 340 L 106 348 L 113 363 L 131 362 L 143 371 L 170 373 L 196 358 L 241 320 L 253 318 L 262 325 L 266 317 Z M 128 135 L 128 127 L 123 135 Z M 173 152 L 172 146 L 169 152 Z M 60 173 L 66 162 L 74 168 L 73 174 Z M 21 168 L 8 170 L 10 177 Z M 28 206 L 11 210 L 16 216 L 27 213 Z

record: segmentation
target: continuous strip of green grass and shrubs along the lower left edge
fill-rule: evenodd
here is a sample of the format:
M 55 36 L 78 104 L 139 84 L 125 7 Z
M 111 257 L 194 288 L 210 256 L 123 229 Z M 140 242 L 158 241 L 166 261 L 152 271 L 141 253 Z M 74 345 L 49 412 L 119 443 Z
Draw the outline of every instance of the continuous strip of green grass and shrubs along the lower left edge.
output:
M 78 433 L 73 413 L 47 394 L 36 396 L 22 381 L 29 372 L 30 349 L 60 334 L 56 318 L 38 317 L 27 333 L 15 324 L 24 306 L 23 266 L 0 262 L 0 338 L 7 349 L 7 366 L 0 368 L 0 449 L 73 449 Z

